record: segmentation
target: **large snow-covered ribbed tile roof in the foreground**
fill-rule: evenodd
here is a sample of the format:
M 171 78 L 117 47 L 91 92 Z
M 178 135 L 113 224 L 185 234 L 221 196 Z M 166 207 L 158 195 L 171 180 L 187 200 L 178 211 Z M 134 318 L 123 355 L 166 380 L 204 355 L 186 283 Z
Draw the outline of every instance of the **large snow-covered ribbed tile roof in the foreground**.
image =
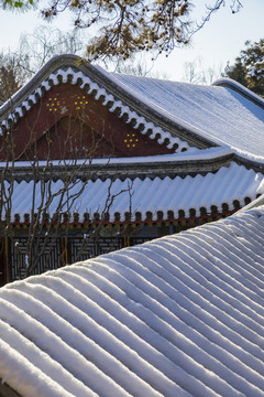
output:
M 264 396 L 264 207 L 7 285 L 0 377 L 35 397 Z

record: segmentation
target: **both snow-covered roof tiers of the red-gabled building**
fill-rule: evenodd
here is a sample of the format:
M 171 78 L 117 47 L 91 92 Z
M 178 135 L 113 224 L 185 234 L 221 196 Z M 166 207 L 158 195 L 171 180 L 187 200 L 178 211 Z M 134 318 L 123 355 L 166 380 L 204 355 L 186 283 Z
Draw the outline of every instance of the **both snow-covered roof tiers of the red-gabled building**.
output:
M 59 84 L 79 86 L 140 133 L 175 150 L 173 154 L 94 161 L 97 176 L 74 205 L 59 207 L 59 212 L 89 213 L 90 217 L 102 213 L 110 184 L 111 194 L 117 195 L 110 221 L 114 221 L 114 213 L 124 219 L 131 204 L 133 219 L 135 213 L 145 218 L 151 212 L 155 221 L 157 212 L 166 218 L 168 211 L 178 217 L 179 210 L 188 216 L 195 208 L 199 215 L 201 207 L 210 213 L 212 205 L 220 211 L 223 203 L 232 211 L 234 201 L 243 206 L 245 198 L 249 202 L 264 193 L 264 100 L 238 83 L 221 79 L 213 86 L 199 86 L 107 73 L 74 55 L 59 55 L 0 107 L 0 127 L 18 122 Z M 59 161 L 55 163 L 54 192 L 63 184 Z M 32 213 L 32 167 L 28 170 L 26 164 L 15 165 L 15 178 L 20 175 L 14 182 L 12 218 Z M 41 183 L 37 200 L 40 190 Z M 119 194 L 121 191 L 125 192 Z M 48 208 L 51 216 L 57 212 L 56 198 Z M 65 202 L 68 204 L 66 196 Z

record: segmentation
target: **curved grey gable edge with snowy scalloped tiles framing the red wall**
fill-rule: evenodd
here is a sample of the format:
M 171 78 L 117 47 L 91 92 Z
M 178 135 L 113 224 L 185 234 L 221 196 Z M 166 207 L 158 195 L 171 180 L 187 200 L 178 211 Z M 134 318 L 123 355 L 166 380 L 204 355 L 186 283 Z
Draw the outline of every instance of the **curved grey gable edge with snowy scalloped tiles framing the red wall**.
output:
M 53 57 L 22 89 L 0 108 L 0 130 L 3 131 L 9 129 L 11 125 L 15 125 L 53 86 L 70 83 L 72 85 L 79 86 L 86 94 L 92 95 L 110 112 L 114 112 L 125 124 L 132 125 L 142 136 L 147 136 L 150 139 L 156 140 L 160 144 L 165 144 L 167 149 L 175 152 L 189 150 L 188 142 L 172 136 L 170 132 L 154 125 L 150 119 L 133 110 L 119 97 L 113 96 L 111 94 L 113 84 L 108 82 L 109 84 L 105 88 L 106 84 L 101 78 L 102 76 L 105 77 L 105 74 L 100 68 L 91 66 L 79 57 L 73 55 Z

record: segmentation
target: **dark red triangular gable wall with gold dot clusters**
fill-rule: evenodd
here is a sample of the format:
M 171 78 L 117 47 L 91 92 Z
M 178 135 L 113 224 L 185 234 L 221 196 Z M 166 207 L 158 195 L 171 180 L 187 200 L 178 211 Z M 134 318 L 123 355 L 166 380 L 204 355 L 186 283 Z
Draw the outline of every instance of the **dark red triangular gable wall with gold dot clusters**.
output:
M 173 153 L 70 84 L 52 87 L 14 126 L 12 137 L 20 160 Z M 3 149 L 0 155 L 6 159 Z

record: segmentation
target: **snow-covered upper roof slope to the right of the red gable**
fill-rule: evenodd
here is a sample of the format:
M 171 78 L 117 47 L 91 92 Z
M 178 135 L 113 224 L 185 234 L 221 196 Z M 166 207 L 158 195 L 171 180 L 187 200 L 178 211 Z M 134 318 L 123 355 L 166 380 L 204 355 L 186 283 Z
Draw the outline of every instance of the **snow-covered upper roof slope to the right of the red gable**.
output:
M 112 74 L 123 88 L 176 124 L 248 155 L 264 152 L 264 100 L 235 82 L 217 85 Z M 222 86 L 220 86 L 222 85 Z

